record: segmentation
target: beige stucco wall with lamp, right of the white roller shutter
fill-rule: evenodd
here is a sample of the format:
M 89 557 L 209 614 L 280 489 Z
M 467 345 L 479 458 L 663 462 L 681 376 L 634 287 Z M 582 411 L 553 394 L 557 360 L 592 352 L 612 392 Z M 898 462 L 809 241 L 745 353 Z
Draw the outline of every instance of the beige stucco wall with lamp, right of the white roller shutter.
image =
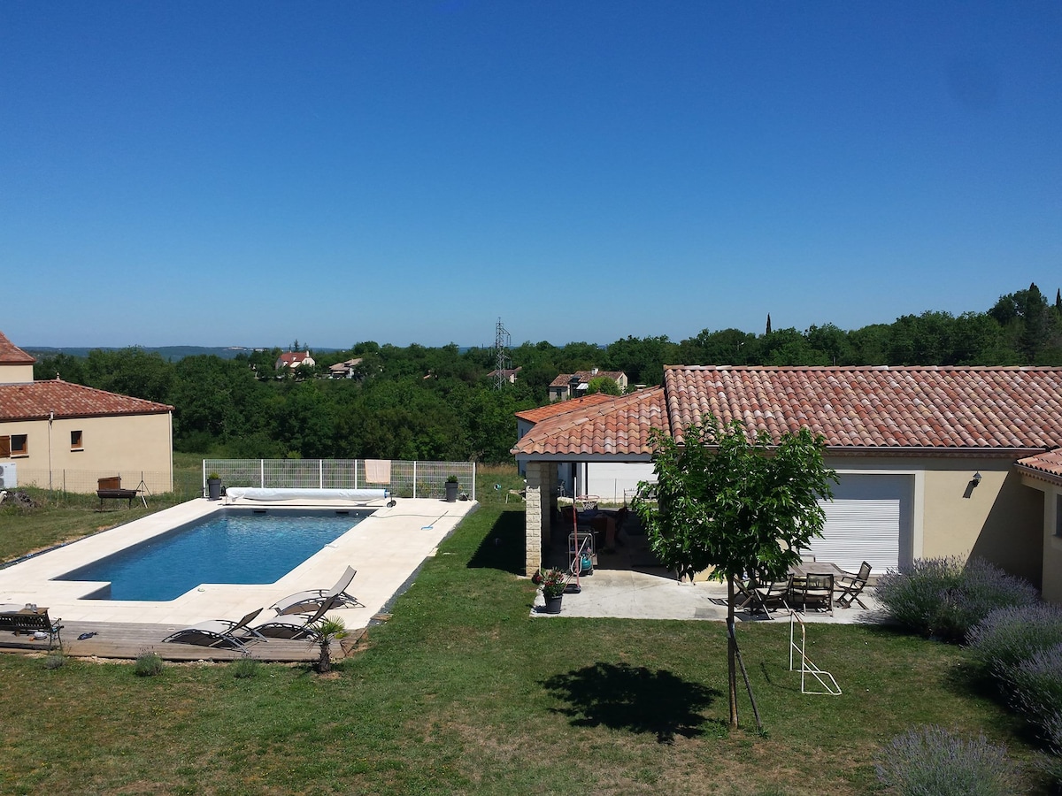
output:
M 914 558 L 980 556 L 1040 585 L 1043 498 L 1022 483 L 1014 457 L 830 456 L 849 472 L 911 473 Z M 978 486 L 971 487 L 975 472 Z

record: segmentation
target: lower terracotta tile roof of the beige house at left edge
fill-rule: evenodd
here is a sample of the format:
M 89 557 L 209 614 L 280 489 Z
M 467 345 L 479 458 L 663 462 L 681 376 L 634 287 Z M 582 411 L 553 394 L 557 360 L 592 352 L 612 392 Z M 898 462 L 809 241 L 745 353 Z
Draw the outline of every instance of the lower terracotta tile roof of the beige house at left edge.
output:
M 147 415 L 170 412 L 173 406 L 141 398 L 71 384 L 67 381 L 34 381 L 0 384 L 0 420 L 97 415 Z

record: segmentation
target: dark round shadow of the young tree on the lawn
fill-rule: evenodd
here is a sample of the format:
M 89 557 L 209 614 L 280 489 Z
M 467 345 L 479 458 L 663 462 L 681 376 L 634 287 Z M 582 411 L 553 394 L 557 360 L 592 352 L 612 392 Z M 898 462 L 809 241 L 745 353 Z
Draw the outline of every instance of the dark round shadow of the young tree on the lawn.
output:
M 653 732 L 663 744 L 673 743 L 675 736 L 703 734 L 707 720 L 700 711 L 721 696 L 716 689 L 665 670 L 651 672 L 628 663 L 599 662 L 554 675 L 543 685 L 567 704 L 558 712 L 570 716 L 575 727 Z

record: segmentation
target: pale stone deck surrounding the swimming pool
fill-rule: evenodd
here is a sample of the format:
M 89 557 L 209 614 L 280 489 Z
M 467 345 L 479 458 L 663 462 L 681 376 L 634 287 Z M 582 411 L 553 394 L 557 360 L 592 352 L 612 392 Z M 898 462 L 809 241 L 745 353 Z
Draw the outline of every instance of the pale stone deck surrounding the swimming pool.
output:
M 280 505 L 293 504 L 271 503 L 263 507 Z M 105 584 L 52 579 L 222 507 L 218 501 L 196 499 L 0 570 L 0 604 L 47 606 L 49 616 L 68 622 L 153 623 L 172 625 L 174 629 L 205 619 L 239 619 L 255 608 L 263 608 L 255 621 L 258 623 L 274 616 L 269 606 L 277 600 L 306 589 L 330 589 L 350 566 L 358 573 L 347 592 L 364 607 L 336 612 L 348 628 L 365 627 L 478 505 L 474 501 L 446 503 L 399 498 L 393 508 L 376 508 L 373 515 L 276 583 L 201 584 L 168 602 L 89 600 L 86 595 Z M 314 507 L 357 506 L 329 503 Z

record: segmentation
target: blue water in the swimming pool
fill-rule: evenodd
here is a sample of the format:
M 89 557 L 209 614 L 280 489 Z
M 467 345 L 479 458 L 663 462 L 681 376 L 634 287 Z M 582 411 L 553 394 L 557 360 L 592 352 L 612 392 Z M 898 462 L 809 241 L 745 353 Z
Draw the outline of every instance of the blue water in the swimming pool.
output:
M 274 583 L 372 512 L 223 508 L 57 581 L 109 581 L 99 600 L 173 600 L 202 583 Z

